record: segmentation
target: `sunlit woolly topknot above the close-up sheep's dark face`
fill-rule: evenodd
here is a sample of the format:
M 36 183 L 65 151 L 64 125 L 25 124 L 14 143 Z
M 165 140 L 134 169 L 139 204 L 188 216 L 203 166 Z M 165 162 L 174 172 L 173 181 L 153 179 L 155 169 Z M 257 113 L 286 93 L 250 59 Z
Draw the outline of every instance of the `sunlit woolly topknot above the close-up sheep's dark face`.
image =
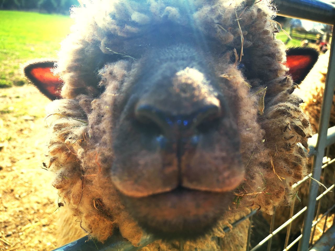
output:
M 241 31 L 243 48 L 252 47 L 257 59 L 251 69 L 254 76 L 269 81 L 285 69 L 278 64 L 284 60 L 284 47 L 271 39 L 274 23 L 269 20 L 275 15 L 274 7 L 268 1 L 252 2 L 100 0 L 72 8 L 75 24 L 62 43 L 57 68 L 65 81 L 62 95 L 96 94 L 97 70 L 113 54 L 136 60 L 166 37 L 181 41 L 195 37 L 213 50 L 235 48 L 240 54 Z

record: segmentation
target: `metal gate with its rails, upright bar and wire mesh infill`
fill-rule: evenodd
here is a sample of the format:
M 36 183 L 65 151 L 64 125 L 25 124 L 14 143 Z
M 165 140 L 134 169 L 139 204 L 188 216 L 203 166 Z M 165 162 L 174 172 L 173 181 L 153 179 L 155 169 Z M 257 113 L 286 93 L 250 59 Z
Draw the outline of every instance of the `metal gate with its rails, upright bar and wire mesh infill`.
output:
M 278 15 L 308 19 L 333 25 L 335 23 L 335 8 L 333 5 L 326 4 L 317 0 L 276 0 L 278 6 Z M 334 30 L 333 30 L 333 37 Z M 278 210 L 271 219 L 265 220 L 263 229 L 268 228 L 268 233 L 257 243 L 251 238 L 253 231 L 259 223 L 256 211 L 250 212 L 245 217 L 232 224 L 237 226 L 246 219 L 251 219 L 249 225 L 246 251 L 256 250 L 299 250 L 299 251 L 335 251 L 335 204 L 329 204 L 331 201 L 327 196 L 332 193 L 335 184 L 324 186 L 322 183 L 332 175 L 332 181 L 335 180 L 335 127 L 328 129 L 330 111 L 332 107 L 335 86 L 335 51 L 334 43 L 331 44 L 331 56 L 329 60 L 326 85 L 324 89 L 323 102 L 321 107 L 319 131 L 318 134 L 309 140 L 311 173 L 307 174 L 303 180 L 295 183 L 293 188 L 308 189 L 308 201 L 301 203 L 298 194 L 294 196 L 293 202 L 289 209 L 287 219 L 277 220 Z M 331 174 L 330 174 L 331 173 Z M 320 182 L 321 180 L 321 182 Z M 334 196 L 334 195 L 331 195 Z M 300 206 L 298 206 L 300 205 Z M 303 219 L 303 220 L 302 220 Z M 258 221 L 258 223 L 257 223 Z M 270 224 L 268 224 L 270 222 Z M 299 224 L 302 224 L 300 226 Z M 279 225 L 279 226 L 278 226 Z M 297 229 L 299 231 L 297 231 Z M 231 226 L 224 228 L 224 232 L 229 232 Z M 278 241 L 276 237 L 281 236 Z M 154 239 L 146 237 L 140 243 L 140 247 L 148 245 Z M 220 241 L 220 240 L 218 240 Z M 87 237 L 81 238 L 74 242 L 64 245 L 55 250 L 73 251 L 73 250 L 138 250 L 140 247 L 133 247 L 125 241 L 122 236 L 115 232 L 104 244 L 87 241 Z M 180 250 L 183 250 L 181 243 Z

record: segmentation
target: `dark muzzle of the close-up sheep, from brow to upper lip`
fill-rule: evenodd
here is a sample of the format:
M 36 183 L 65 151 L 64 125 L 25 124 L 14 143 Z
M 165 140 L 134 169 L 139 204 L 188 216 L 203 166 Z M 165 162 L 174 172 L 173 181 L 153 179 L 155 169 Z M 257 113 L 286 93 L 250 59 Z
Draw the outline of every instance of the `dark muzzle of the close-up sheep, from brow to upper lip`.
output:
M 204 55 L 175 45 L 133 64 L 112 130 L 112 180 L 125 195 L 226 192 L 242 181 L 236 121 Z

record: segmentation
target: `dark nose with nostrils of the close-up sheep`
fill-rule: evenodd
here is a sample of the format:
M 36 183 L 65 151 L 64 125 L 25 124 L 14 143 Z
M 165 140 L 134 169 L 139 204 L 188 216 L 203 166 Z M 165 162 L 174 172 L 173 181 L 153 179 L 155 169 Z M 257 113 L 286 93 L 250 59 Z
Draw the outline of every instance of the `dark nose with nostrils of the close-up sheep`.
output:
M 190 114 L 173 115 L 149 104 L 135 108 L 135 117 L 159 136 L 170 140 L 205 134 L 214 130 L 221 116 L 220 106 L 205 104 Z

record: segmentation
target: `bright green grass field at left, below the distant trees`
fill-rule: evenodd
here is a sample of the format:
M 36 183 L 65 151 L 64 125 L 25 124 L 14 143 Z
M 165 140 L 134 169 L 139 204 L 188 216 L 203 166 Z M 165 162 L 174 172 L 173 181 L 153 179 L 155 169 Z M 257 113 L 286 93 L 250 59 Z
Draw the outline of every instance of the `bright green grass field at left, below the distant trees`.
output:
M 62 15 L 0 10 L 0 88 L 22 85 L 20 64 L 54 58 L 73 20 Z

